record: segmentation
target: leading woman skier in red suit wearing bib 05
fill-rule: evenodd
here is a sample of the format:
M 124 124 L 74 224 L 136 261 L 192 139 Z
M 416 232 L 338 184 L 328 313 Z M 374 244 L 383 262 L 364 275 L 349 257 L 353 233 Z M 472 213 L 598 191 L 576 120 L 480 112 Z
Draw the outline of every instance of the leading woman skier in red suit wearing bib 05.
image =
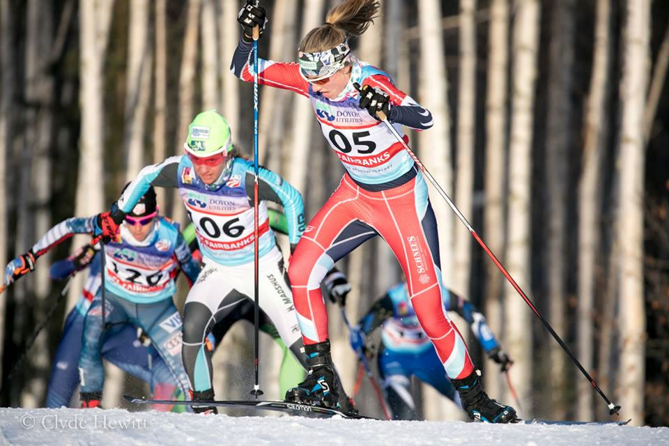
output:
M 431 128 L 432 116 L 397 89 L 387 73 L 355 58 L 348 44 L 349 38 L 364 33 L 378 8 L 374 0 L 344 1 L 328 12 L 323 26 L 302 39 L 298 63 L 261 60 L 257 67 L 261 84 L 309 98 L 323 136 L 346 168 L 337 190 L 309 222 L 290 262 L 309 375 L 286 394 L 286 400 L 337 406 L 344 390 L 334 378 L 320 283 L 335 262 L 366 240 L 381 236 L 401 264 L 417 320 L 469 417 L 512 422 L 516 411 L 488 397 L 480 371 L 443 309 L 437 224 L 426 183 L 413 158 L 380 121 L 385 115 L 401 134 L 402 125 Z M 251 82 L 252 33 L 256 26 L 263 32 L 266 11 L 258 1 L 247 0 L 237 20 L 243 36 L 231 70 Z

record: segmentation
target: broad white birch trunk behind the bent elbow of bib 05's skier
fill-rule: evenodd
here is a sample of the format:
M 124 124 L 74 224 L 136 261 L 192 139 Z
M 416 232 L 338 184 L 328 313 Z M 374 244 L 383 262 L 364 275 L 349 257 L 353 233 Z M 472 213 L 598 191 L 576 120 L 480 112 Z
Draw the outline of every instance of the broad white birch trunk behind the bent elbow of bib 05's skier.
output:
M 423 0 L 418 6 L 418 26 L 420 27 L 420 104 L 429 109 L 435 125 L 426 132 L 420 132 L 420 155 L 422 162 L 447 194 L 452 194 L 453 177 L 451 169 L 451 117 L 448 109 L 448 82 L 444 58 L 441 30 L 441 9 L 437 0 Z M 428 183 L 429 184 L 429 183 Z M 453 215 L 447 203 L 430 185 L 432 206 L 439 222 L 439 251 L 444 284 L 451 283 L 451 256 Z M 432 401 L 424 406 L 426 420 L 440 420 L 443 413 L 450 410 L 450 401 L 433 390 L 423 386 L 424 401 Z

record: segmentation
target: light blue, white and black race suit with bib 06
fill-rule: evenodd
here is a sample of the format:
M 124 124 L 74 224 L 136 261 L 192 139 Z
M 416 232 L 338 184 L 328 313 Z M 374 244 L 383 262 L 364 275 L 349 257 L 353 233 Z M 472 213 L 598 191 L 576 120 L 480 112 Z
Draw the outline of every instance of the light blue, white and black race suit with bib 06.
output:
M 302 340 L 284 259 L 269 226 L 266 201 L 283 207 L 291 245 L 305 229 L 302 196 L 277 174 L 259 169 L 259 304 L 286 346 L 304 364 Z M 144 167 L 118 199 L 128 213 L 148 187 L 177 188 L 194 224 L 202 272 L 184 307 L 183 362 L 196 397 L 212 392 L 211 352 L 206 337 L 244 300 L 254 295 L 254 167 L 230 157 L 207 185 L 189 157 L 175 156 Z M 201 393 L 204 392 L 204 393 Z

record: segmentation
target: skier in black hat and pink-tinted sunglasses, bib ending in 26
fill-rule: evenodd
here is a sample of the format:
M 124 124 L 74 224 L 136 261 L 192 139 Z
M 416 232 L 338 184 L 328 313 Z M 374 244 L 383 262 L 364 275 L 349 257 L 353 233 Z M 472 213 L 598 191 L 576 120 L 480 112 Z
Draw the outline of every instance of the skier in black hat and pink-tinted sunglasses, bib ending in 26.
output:
M 101 347 L 105 339 L 124 330 L 128 323 L 142 328 L 151 339 L 174 376 L 173 390 L 178 387 L 183 394 L 190 391 L 181 362 L 182 322 L 172 295 L 176 292 L 177 268 L 194 282 L 199 266 L 192 259 L 178 224 L 157 215 L 153 188 L 145 192 L 137 197 L 124 221 L 119 222 L 120 234 L 117 236 L 116 231 L 105 234 L 105 327 L 102 327 L 102 300 L 95 298 L 84 321 L 79 356 L 82 407 L 100 405 L 105 378 Z M 15 259 L 10 275 L 18 277 L 26 268 L 32 270 L 40 255 L 75 233 L 100 232 L 100 224 L 104 222 L 104 218 L 93 216 L 72 217 L 57 224 L 29 252 Z

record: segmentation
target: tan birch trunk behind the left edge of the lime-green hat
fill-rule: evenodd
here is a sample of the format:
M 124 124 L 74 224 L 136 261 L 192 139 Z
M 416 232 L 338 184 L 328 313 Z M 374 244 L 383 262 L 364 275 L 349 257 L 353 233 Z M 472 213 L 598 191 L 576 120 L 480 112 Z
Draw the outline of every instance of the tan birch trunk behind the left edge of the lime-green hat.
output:
M 195 68 L 197 66 L 197 36 L 199 34 L 200 6 L 200 0 L 188 0 L 188 15 L 179 72 L 178 128 L 176 129 L 176 141 L 174 143 L 176 155 L 183 153 L 183 143 L 186 140 L 188 125 L 195 117 L 193 101 L 195 95 Z M 178 190 L 174 190 L 174 201 L 170 215 L 176 222 L 185 224 L 186 213 Z

